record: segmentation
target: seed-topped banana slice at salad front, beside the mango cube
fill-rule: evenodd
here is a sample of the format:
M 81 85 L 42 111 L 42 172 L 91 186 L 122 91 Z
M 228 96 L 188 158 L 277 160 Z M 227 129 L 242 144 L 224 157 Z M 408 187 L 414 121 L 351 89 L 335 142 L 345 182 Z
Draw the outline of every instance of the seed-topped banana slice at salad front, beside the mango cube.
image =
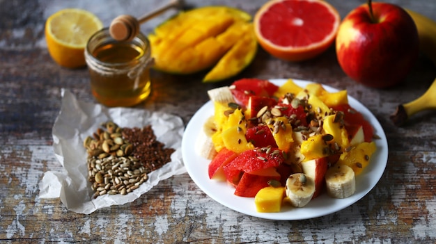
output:
M 291 174 L 286 179 L 285 190 L 290 203 L 300 208 L 311 201 L 313 193 L 315 193 L 315 182 L 313 179 L 306 177 L 306 174 Z

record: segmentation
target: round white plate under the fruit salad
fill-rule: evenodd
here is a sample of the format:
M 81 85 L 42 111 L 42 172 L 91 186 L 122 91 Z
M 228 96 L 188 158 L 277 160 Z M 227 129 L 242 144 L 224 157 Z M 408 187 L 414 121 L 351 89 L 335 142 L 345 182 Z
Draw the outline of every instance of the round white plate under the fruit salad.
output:
M 276 85 L 281 85 L 286 80 L 272 79 L 270 81 Z M 297 85 L 302 87 L 310 83 L 310 81 L 294 81 Z M 337 91 L 332 87 L 323 86 L 329 92 Z M 182 138 L 182 158 L 187 172 L 195 184 L 213 200 L 227 206 L 229 209 L 258 218 L 270 220 L 304 220 L 317 218 L 345 209 L 364 197 L 377 184 L 380 177 L 382 177 L 384 168 L 386 168 L 388 157 L 387 139 L 380 123 L 371 111 L 359 101 L 350 96 L 348 97 L 348 101 L 353 108 L 362 113 L 364 117 L 371 122 L 375 133 L 380 137 L 380 139 L 375 140 L 377 151 L 371 157 L 371 162 L 365 168 L 364 172 L 356 177 L 356 193 L 351 197 L 334 199 L 324 193 L 302 208 L 285 206 L 282 207 L 279 213 L 258 213 L 254 204 L 254 197 L 238 197 L 233 194 L 235 188 L 229 186 L 226 182 L 209 179 L 208 164 L 210 160 L 199 156 L 194 148 L 205 120 L 214 113 L 214 106 L 211 101 L 208 101 L 195 113 L 185 129 Z

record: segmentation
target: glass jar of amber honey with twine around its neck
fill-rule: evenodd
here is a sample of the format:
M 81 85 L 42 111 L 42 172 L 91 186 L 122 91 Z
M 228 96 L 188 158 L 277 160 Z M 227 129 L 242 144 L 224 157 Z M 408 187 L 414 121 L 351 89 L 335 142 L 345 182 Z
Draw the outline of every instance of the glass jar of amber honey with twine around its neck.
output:
M 125 42 L 111 38 L 107 28 L 91 36 L 85 59 L 95 99 L 109 107 L 134 106 L 147 99 L 153 63 L 150 53 L 150 42 L 142 33 Z

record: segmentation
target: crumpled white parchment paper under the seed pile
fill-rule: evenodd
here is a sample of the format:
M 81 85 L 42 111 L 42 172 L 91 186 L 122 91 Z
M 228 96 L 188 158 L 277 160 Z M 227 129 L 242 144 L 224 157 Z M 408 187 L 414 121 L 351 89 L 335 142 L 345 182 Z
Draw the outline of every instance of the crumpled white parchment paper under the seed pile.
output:
M 83 140 L 92 136 L 100 123 L 113 121 L 120 127 L 144 127 L 151 124 L 157 140 L 165 147 L 176 149 L 171 162 L 150 172 L 148 181 L 127 195 L 102 195 L 93 199 L 88 181 L 86 149 Z M 100 104 L 77 101 L 68 90 L 62 89 L 61 111 L 54 122 L 53 147 L 56 158 L 63 165 L 62 172 L 47 171 L 39 184 L 40 198 L 61 198 L 68 210 L 89 214 L 111 205 L 137 200 L 159 181 L 186 172 L 182 162 L 181 143 L 184 125 L 180 117 L 168 113 L 150 112 L 137 108 L 106 108 Z

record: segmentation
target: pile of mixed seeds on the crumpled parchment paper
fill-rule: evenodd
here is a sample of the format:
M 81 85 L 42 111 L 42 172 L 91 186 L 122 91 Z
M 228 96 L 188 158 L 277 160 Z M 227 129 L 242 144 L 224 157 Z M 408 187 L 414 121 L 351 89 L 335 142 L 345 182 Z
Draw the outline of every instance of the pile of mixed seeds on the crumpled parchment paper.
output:
M 174 149 L 156 140 L 151 126 L 122 128 L 114 122 L 101 124 L 84 140 L 88 153 L 88 180 L 100 195 L 126 195 L 148 180 L 148 173 L 171 161 Z

